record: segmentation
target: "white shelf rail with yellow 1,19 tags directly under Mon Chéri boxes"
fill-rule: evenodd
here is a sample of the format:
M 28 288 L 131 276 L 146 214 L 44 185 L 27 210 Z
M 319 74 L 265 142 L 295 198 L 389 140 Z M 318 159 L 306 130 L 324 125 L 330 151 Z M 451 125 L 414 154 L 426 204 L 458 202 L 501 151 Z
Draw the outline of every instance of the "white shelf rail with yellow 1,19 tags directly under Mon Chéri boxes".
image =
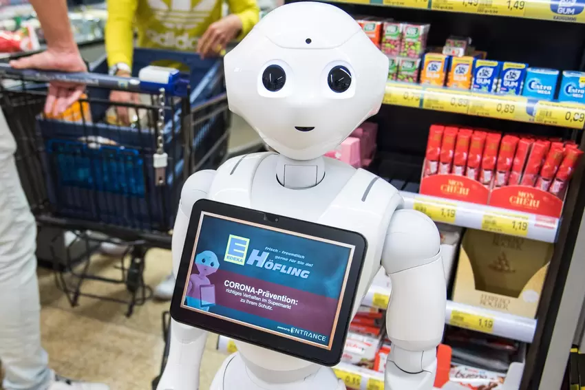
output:
M 405 207 L 416 208 L 436 222 L 555 242 L 559 219 L 482 204 L 401 191 Z

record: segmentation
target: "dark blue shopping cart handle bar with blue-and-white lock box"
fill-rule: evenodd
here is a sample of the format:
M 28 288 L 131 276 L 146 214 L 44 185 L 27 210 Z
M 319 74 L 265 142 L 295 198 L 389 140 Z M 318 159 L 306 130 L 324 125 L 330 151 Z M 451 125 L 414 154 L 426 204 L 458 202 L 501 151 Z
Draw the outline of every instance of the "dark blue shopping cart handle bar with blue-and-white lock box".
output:
M 12 78 L 26 81 L 63 81 L 65 83 L 85 84 L 89 87 L 118 89 L 133 92 L 157 93 L 164 89 L 167 96 L 187 97 L 189 77 L 176 69 L 163 67 L 145 67 L 139 77 L 118 77 L 87 72 L 52 72 L 37 69 L 14 69 L 6 63 L 0 63 L 0 78 Z

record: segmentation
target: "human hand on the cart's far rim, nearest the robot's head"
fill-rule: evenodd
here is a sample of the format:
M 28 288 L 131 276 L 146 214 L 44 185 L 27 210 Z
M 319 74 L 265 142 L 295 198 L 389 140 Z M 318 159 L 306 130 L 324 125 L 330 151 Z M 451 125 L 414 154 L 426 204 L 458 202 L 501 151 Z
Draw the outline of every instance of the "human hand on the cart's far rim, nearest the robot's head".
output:
M 197 52 L 201 58 L 219 54 L 226 48 L 226 45 L 242 30 L 242 19 L 235 14 L 230 14 L 215 23 L 211 23 L 209 28 L 199 39 Z

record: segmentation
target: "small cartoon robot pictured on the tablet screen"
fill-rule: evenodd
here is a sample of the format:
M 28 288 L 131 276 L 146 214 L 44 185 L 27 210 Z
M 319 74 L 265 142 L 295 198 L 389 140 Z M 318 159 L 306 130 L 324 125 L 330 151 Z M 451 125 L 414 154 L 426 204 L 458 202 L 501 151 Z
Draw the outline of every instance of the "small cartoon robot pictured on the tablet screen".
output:
M 198 273 L 191 270 L 185 305 L 209 312 L 209 307 L 215 305 L 215 285 L 207 277 L 220 268 L 220 261 L 211 250 L 205 250 L 195 256 L 194 265 Z

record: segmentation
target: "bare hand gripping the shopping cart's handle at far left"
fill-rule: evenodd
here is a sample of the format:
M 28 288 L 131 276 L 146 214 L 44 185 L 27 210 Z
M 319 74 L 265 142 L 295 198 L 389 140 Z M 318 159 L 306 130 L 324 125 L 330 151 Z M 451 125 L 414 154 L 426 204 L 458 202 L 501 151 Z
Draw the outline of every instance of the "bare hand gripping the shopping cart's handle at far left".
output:
M 10 61 L 10 66 L 14 69 L 87 72 L 87 67 L 77 50 L 74 52 L 60 52 L 48 49 L 39 54 Z M 85 85 L 64 83 L 62 81 L 50 83 L 47 100 L 45 101 L 45 112 L 52 113 L 53 116 L 61 115 L 63 111 L 80 98 L 84 90 Z

